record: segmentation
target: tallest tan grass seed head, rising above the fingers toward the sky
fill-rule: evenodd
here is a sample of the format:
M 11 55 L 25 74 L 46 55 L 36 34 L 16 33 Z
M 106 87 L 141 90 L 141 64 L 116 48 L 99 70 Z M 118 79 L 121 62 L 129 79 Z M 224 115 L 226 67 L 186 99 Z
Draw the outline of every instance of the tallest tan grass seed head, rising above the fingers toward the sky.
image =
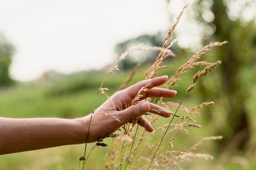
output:
M 182 11 L 180 12 L 180 15 L 178 15 L 175 23 L 173 24 L 172 28 L 168 31 L 168 34 L 167 36 L 165 37 L 164 39 L 164 44 L 163 44 L 163 47 L 162 47 L 162 50 L 160 51 L 159 55 L 156 57 L 155 59 L 155 63 L 153 63 L 153 65 L 151 65 L 151 67 L 148 69 L 148 71 L 145 72 L 145 79 L 148 80 L 150 78 L 153 78 L 155 76 L 155 74 L 157 74 L 157 72 L 162 69 L 163 67 L 161 66 L 162 65 L 162 61 L 163 59 L 165 59 L 166 57 L 166 49 L 169 49 L 171 48 L 171 46 L 173 45 L 173 43 L 175 41 L 177 41 L 177 39 L 174 39 L 171 44 L 168 43 L 168 39 L 169 37 L 171 36 L 174 28 L 177 26 L 177 24 L 179 23 L 180 21 L 180 17 L 182 16 L 183 12 L 184 12 L 184 9 L 187 7 L 184 6 Z

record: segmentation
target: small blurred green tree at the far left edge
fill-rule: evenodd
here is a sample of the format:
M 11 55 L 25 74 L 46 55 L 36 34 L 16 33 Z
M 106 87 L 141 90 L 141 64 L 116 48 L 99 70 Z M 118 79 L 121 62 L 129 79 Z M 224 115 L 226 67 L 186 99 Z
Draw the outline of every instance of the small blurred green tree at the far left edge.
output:
M 13 46 L 0 34 L 0 87 L 10 85 L 13 82 L 9 76 L 13 52 Z

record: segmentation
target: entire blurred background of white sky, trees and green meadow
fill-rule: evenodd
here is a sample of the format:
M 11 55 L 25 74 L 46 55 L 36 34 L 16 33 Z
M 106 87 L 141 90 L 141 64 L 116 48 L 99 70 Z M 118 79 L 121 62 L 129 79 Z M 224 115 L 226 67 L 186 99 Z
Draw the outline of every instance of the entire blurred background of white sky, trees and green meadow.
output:
M 223 135 L 198 153 L 214 160 L 193 159 L 184 169 L 253 170 L 256 166 L 256 1 L 254 0 L 141 0 L 124 1 L 18 1 L 0 0 L 0 116 L 11 118 L 77 118 L 92 111 L 92 102 L 104 74 L 129 47 L 144 43 L 162 46 L 168 29 L 184 5 L 187 9 L 170 38 L 175 58 L 166 59 L 157 75 L 171 77 L 177 68 L 211 41 L 229 41 L 204 54 L 206 61 L 222 64 L 198 81 L 184 105 L 204 101 L 201 129 L 189 129 L 189 140 L 177 137 L 175 149 L 190 147 L 202 137 Z M 144 72 L 157 52 L 132 52 L 110 74 L 104 87 L 109 95 L 141 63 L 131 84 Z M 198 69 L 177 83 L 179 102 Z M 101 105 L 106 97 L 97 100 Z M 164 122 L 165 120 L 163 120 Z M 161 122 L 160 122 L 161 123 Z M 183 136 L 182 136 L 183 137 Z M 187 142 L 189 141 L 189 142 Z M 84 145 L 0 155 L 1 170 L 79 169 Z M 106 148 L 90 157 L 90 169 L 99 168 Z M 98 162 L 98 163 L 97 163 Z M 102 166 L 104 167 L 104 166 Z

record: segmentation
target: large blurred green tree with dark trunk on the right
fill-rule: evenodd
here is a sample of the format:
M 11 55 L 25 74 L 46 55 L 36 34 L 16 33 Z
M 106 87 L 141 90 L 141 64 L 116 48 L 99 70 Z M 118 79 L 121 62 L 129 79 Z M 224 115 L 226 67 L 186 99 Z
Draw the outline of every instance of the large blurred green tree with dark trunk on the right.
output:
M 239 136 L 238 146 L 240 149 L 243 149 L 250 137 L 249 113 L 246 109 L 246 99 L 250 95 L 250 89 L 253 88 L 252 79 L 255 76 L 252 66 L 255 65 L 256 27 L 253 20 L 245 22 L 241 14 L 252 4 L 249 2 L 247 4 L 241 3 L 240 11 L 236 13 L 237 18 L 234 18 L 234 16 L 230 16 L 234 13 L 234 11 L 230 11 L 231 6 L 234 5 L 234 0 L 210 2 L 212 3 L 210 7 L 211 12 L 214 15 L 213 21 L 207 22 L 207 18 L 204 18 L 205 16 L 203 15 L 206 7 L 202 5 L 204 3 L 202 0 L 198 1 L 197 5 L 197 8 L 199 8 L 197 10 L 199 13 L 198 21 L 214 28 L 215 32 L 211 40 L 227 40 L 229 44 L 222 48 L 216 48 L 213 51 L 214 58 L 222 61 L 220 65 L 221 72 L 219 72 L 218 76 L 220 85 L 213 87 L 214 89 L 209 91 L 209 84 L 203 83 L 203 86 L 200 87 L 200 92 L 202 98 L 205 98 L 205 96 L 216 96 L 217 94 L 216 100 L 219 103 L 222 102 L 220 103 L 223 107 L 222 112 L 226 112 L 222 117 L 223 126 L 217 128 L 217 131 L 219 131 L 217 133 L 225 136 L 226 145 L 231 140 L 237 140 L 235 138 Z M 203 39 L 203 41 L 209 40 Z M 205 95 L 207 91 L 210 94 Z M 219 94 L 219 92 L 222 94 Z M 216 121 L 218 122 L 219 120 Z

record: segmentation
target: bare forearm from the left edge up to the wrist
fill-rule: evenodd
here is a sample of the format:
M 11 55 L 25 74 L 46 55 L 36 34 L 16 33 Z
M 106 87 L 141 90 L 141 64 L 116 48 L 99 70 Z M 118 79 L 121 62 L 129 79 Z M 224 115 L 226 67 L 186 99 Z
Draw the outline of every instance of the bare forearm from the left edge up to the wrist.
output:
M 84 143 L 87 134 L 81 122 L 60 118 L 0 118 L 0 155 Z

